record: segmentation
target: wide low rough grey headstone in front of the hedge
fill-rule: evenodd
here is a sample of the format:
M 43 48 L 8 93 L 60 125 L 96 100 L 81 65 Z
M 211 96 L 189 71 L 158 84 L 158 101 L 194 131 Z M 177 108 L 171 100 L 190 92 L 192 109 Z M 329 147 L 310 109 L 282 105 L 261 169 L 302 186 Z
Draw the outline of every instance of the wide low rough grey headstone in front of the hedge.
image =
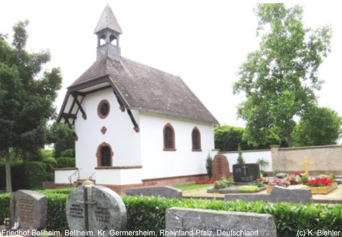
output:
M 193 231 L 185 236 L 261 236 L 276 237 L 277 231 L 274 217 L 269 214 L 250 212 L 214 211 L 191 208 L 169 208 L 166 210 L 167 231 Z M 196 233 L 196 231 L 211 231 Z M 253 231 L 253 234 L 229 235 L 223 231 Z M 255 233 L 255 232 L 258 233 Z M 182 236 L 182 232 L 175 235 Z M 220 235 L 221 234 L 221 235 Z

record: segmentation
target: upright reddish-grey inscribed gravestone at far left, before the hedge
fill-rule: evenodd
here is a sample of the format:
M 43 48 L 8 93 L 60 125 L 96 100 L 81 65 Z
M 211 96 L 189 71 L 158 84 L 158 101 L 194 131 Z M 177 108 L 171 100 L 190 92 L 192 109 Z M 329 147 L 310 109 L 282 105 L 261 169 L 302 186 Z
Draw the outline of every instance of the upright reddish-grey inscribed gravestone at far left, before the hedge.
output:
M 32 190 L 17 190 L 11 194 L 11 224 L 19 229 L 41 229 L 47 218 L 47 198 Z

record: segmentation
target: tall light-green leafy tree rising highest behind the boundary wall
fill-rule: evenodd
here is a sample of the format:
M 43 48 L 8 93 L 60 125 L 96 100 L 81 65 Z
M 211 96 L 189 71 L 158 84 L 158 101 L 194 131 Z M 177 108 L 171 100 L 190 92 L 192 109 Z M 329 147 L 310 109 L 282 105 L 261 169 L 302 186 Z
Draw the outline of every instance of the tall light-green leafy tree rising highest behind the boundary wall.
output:
M 260 48 L 248 54 L 233 86 L 234 93 L 246 94 L 237 114 L 247 122 L 252 144 L 260 144 L 268 129 L 277 127 L 292 146 L 294 116 L 305 114 L 316 103 L 314 90 L 322 84 L 318 67 L 330 52 L 331 30 L 305 28 L 302 14 L 298 5 L 257 6 Z

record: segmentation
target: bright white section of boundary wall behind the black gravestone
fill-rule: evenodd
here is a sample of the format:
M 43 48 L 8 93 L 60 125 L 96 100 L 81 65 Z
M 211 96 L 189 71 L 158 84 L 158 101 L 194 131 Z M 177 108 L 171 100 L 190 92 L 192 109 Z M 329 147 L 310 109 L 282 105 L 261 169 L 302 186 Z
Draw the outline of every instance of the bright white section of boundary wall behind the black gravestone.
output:
M 220 154 L 225 155 L 228 159 L 229 170 L 233 172 L 233 164 L 236 164 L 238 157 L 238 152 L 220 152 Z M 256 163 L 259 158 L 264 158 L 269 162 L 268 166 L 265 168 L 266 172 L 272 172 L 272 156 L 271 150 L 244 150 L 242 151 L 242 157 L 245 159 L 245 163 Z

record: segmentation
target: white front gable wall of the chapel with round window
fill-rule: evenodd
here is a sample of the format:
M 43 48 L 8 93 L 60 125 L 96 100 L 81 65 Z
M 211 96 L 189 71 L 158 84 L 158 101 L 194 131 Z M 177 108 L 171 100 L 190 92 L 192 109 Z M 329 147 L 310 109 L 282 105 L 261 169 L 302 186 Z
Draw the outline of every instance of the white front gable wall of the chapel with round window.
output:
M 97 115 L 97 106 L 102 100 L 110 104 L 110 111 L 106 118 L 101 119 Z M 113 166 L 141 165 L 140 159 L 140 133 L 133 130 L 132 121 L 125 110 L 122 112 L 112 89 L 105 89 L 87 94 L 82 107 L 87 114 L 87 119 L 82 118 L 78 111 L 75 120 L 75 132 L 78 141 L 75 142 L 76 167 L 80 170 L 80 179 L 88 179 L 95 172 L 96 180 L 97 147 L 108 143 L 113 152 Z M 139 112 L 131 110 L 139 124 Z M 102 134 L 101 128 L 105 126 L 107 131 Z

